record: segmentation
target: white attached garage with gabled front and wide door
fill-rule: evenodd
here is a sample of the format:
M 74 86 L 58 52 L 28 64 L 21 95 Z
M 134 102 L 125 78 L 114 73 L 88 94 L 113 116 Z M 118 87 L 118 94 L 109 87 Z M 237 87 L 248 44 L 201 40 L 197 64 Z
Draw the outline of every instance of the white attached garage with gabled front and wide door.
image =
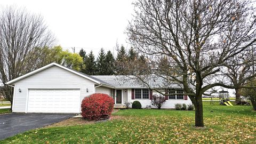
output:
M 14 113 L 80 113 L 82 100 L 95 93 L 95 86 L 113 87 L 57 63 L 6 84 L 14 87 Z

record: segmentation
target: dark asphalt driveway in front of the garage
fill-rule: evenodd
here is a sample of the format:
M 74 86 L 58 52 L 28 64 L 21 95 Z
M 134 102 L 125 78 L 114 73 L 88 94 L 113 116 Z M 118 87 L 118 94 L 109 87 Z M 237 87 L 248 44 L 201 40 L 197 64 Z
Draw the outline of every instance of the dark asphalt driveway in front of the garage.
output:
M 44 127 L 75 114 L 4 114 L 0 115 L 0 140 L 31 129 Z

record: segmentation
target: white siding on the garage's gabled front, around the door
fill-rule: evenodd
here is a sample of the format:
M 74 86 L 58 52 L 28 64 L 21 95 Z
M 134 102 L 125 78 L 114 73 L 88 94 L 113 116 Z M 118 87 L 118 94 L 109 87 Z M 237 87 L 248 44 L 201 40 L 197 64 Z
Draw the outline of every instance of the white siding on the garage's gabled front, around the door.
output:
M 15 96 L 13 112 L 26 112 L 28 89 L 80 89 L 83 98 L 94 93 L 94 82 L 71 73 L 68 70 L 52 66 L 39 73 L 15 82 Z M 88 88 L 89 92 L 86 92 Z M 19 92 L 19 89 L 21 92 Z

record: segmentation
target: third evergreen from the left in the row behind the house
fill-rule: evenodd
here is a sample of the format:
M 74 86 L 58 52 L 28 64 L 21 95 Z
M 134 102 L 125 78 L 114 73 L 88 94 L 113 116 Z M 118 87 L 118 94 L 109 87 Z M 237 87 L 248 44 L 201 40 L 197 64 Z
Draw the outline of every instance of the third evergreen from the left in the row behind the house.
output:
M 106 63 L 106 54 L 105 51 L 101 48 L 99 52 L 99 56 L 97 58 L 97 75 L 105 75 L 107 69 L 107 63 Z

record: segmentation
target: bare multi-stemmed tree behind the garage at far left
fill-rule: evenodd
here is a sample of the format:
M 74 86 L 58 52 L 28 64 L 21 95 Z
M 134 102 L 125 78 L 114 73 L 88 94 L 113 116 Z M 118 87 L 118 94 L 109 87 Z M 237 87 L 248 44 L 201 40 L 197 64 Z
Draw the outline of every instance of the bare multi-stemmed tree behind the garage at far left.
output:
M 34 70 L 38 65 L 38 47 L 51 46 L 54 36 L 41 15 L 15 6 L 2 7 L 0 12 L 0 78 L 4 97 L 12 104 L 13 87 L 5 83 Z M 35 57 L 35 55 L 37 57 Z

